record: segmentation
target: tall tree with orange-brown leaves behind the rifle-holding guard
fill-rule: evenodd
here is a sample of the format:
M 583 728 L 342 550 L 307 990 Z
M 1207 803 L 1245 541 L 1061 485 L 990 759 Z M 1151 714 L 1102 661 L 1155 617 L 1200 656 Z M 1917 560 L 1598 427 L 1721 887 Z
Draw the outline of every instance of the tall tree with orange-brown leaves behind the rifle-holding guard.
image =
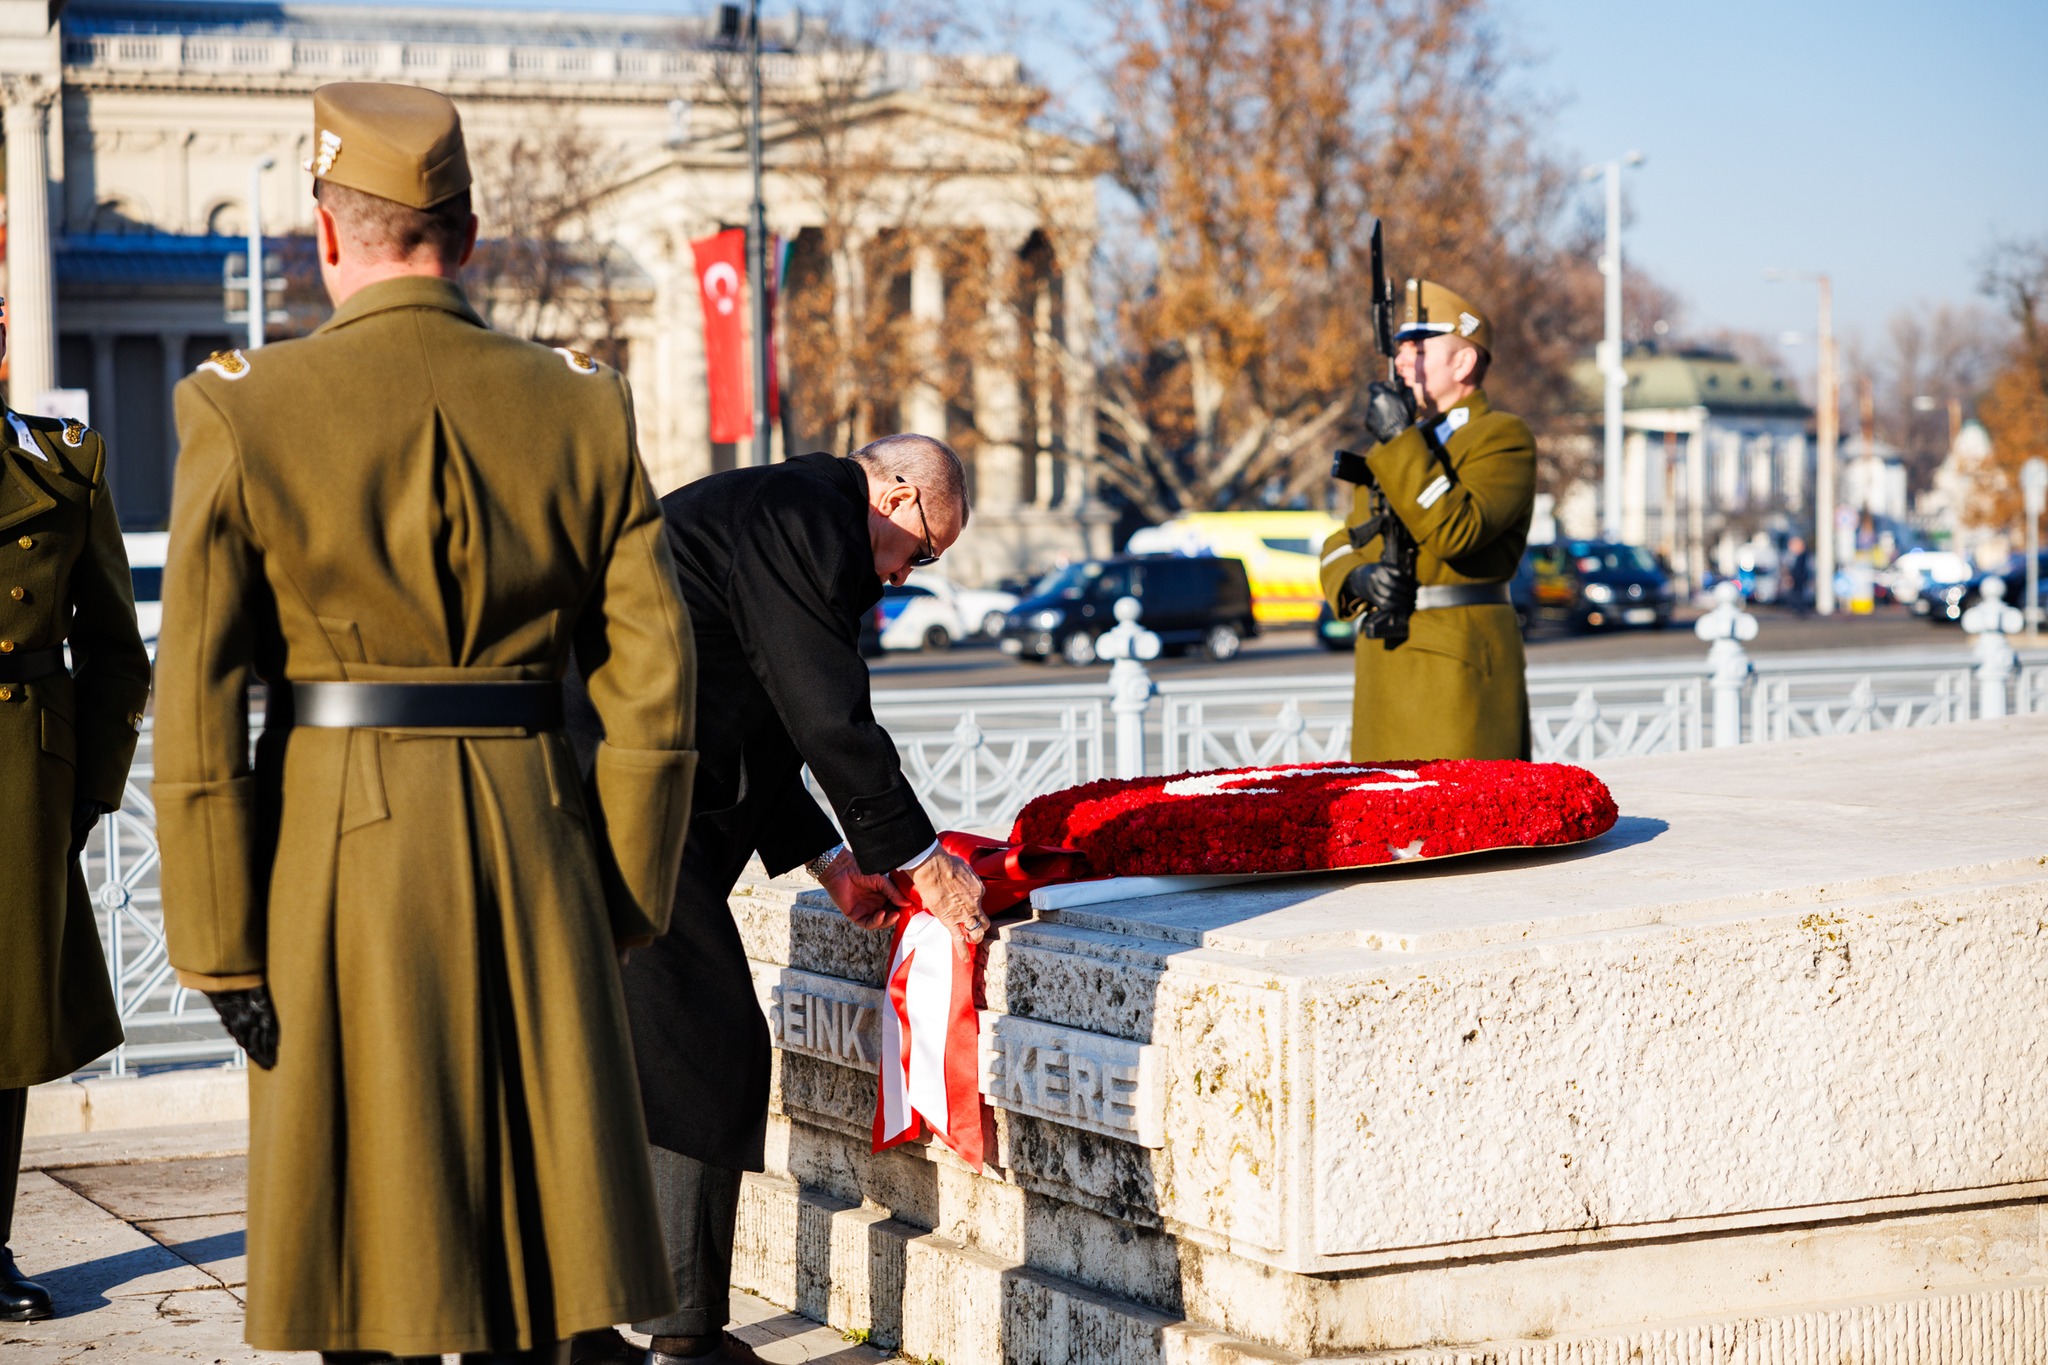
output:
M 1118 0 L 1106 61 L 1114 352 L 1100 473 L 1149 516 L 1321 487 L 1374 375 L 1366 227 L 1497 319 L 1493 393 L 1577 407 L 1597 332 L 1571 180 L 1534 147 L 1483 0 Z

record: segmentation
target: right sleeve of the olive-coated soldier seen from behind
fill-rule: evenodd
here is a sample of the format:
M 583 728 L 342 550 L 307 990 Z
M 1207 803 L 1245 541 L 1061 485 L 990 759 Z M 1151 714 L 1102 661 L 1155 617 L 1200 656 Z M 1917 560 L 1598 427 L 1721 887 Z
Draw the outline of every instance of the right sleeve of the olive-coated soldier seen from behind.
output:
M 633 399 L 618 379 L 621 403 Z M 575 661 L 604 722 L 590 786 L 612 937 L 668 931 L 696 772 L 696 643 L 662 505 L 629 438 L 625 522 L 575 632 Z

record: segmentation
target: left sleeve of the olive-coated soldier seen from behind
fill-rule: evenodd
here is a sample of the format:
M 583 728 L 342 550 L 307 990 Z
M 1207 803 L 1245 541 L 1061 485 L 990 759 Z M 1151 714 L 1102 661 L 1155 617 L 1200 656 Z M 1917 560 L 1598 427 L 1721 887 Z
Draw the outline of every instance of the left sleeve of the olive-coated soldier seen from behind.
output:
M 186 379 L 176 389 L 178 479 L 170 503 L 158 634 L 156 827 L 166 857 L 164 933 L 186 986 L 240 990 L 264 978 L 268 860 L 250 763 L 248 690 L 268 596 L 242 499 L 236 436 Z

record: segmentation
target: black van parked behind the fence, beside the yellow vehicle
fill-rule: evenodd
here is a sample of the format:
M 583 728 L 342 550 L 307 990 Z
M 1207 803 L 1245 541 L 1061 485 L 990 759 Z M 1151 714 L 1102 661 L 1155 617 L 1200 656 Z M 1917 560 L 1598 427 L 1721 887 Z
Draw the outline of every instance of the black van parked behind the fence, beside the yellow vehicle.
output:
M 1004 622 L 1001 651 L 1020 659 L 1061 657 L 1094 663 L 1096 636 L 1116 624 L 1116 600 L 1145 606 L 1139 624 L 1161 649 L 1200 649 L 1231 659 L 1260 632 L 1251 616 L 1251 579 L 1241 559 L 1124 555 L 1090 559 L 1038 579 Z

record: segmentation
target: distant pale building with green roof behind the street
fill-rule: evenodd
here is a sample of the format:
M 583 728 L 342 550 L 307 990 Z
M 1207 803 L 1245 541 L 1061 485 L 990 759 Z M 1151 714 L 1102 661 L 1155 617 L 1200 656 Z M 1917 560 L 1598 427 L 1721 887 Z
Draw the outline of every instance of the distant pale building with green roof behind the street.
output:
M 1810 538 L 1812 409 L 1792 381 L 1708 350 L 1645 346 L 1622 368 L 1624 540 L 1663 553 L 1698 583 L 1706 569 L 1733 573 L 1759 534 Z M 1573 366 L 1573 381 L 1585 411 L 1597 413 L 1591 358 Z M 1573 530 L 1595 514 L 1589 499 L 1579 503 L 1559 512 Z

